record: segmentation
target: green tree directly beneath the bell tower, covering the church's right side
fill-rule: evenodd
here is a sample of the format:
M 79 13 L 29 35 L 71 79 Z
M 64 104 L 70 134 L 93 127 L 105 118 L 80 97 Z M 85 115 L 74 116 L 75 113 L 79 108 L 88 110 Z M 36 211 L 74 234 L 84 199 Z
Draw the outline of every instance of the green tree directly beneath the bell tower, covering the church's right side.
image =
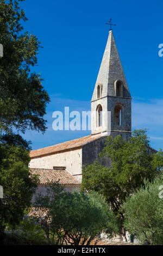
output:
M 123 222 L 123 202 L 143 185 L 145 178 L 153 180 L 163 167 L 162 151 L 150 149 L 146 130 L 137 130 L 128 141 L 121 136 L 108 137 L 100 156 L 110 157 L 111 167 L 98 162 L 84 167 L 82 190 L 102 193 Z

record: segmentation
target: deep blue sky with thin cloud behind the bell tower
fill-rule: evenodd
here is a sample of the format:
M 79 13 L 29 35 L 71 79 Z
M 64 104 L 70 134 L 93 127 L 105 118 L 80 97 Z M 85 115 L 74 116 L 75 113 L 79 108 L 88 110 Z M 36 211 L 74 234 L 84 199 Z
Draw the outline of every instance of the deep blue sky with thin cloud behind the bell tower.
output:
M 162 1 L 140 0 L 27 0 L 22 4 L 29 19 L 24 29 L 35 34 L 40 48 L 43 86 L 51 96 L 44 135 L 27 132 L 32 148 L 47 147 L 88 135 L 90 131 L 53 131 L 52 113 L 89 110 L 112 17 L 114 36 L 133 97 L 133 129 L 147 128 L 152 147 L 163 148 L 163 43 Z

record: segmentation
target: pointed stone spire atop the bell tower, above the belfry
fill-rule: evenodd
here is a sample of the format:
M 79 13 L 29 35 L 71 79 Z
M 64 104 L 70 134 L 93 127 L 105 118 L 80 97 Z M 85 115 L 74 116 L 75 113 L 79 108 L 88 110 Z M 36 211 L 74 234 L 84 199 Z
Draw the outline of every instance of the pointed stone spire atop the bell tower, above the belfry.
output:
M 112 31 L 109 32 L 108 41 L 105 47 L 101 67 L 98 72 L 95 90 L 92 100 L 97 99 L 97 86 L 102 86 L 101 97 L 115 96 L 115 82 L 123 83 L 123 97 L 130 97 L 129 88 L 124 76 L 120 56 L 117 51 L 115 39 Z

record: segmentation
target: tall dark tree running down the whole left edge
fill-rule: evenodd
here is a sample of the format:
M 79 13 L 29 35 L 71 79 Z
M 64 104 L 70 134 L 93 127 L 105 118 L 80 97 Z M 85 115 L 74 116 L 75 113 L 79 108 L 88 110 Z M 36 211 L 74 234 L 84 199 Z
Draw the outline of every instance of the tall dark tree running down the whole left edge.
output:
M 19 0 L 0 0 L 0 232 L 7 224 L 13 227 L 29 206 L 36 179 L 30 175 L 29 142 L 20 133 L 44 132 L 49 96 L 42 78 L 31 69 L 37 64 L 40 42 L 35 35 L 23 32 L 27 21 Z

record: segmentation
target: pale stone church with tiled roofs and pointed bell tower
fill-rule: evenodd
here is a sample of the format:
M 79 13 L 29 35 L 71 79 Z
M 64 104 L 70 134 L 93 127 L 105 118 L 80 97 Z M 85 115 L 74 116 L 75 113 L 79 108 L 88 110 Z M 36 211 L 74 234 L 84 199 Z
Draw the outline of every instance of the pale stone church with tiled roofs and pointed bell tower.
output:
M 107 136 L 131 136 L 131 95 L 124 76 L 112 30 L 109 32 L 102 63 L 91 99 L 91 135 L 30 151 L 31 172 L 40 175 L 40 184 L 57 181 L 68 191 L 82 182 L 82 167 L 99 160 Z M 40 186 L 41 186 L 40 185 Z

